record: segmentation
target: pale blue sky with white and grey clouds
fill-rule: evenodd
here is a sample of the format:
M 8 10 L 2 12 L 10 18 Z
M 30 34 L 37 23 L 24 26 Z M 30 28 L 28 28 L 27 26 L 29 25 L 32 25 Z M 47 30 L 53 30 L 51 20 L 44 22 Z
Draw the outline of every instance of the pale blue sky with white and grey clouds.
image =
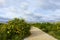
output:
M 0 0 L 0 17 L 59 21 L 60 0 Z

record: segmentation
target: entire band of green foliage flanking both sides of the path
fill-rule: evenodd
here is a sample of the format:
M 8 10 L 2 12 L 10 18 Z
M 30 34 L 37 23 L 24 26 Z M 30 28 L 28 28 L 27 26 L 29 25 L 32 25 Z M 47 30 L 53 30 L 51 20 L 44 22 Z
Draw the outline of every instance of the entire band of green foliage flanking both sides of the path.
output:
M 60 40 L 60 22 L 27 23 L 15 18 L 7 24 L 0 23 L 0 40 L 23 40 L 30 35 L 30 27 L 35 26 Z

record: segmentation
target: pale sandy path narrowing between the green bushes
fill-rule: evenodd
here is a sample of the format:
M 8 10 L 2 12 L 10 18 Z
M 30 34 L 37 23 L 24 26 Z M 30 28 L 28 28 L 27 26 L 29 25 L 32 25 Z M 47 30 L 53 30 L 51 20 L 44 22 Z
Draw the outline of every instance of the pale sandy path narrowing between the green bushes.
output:
M 31 28 L 31 35 L 24 40 L 57 40 L 36 27 Z

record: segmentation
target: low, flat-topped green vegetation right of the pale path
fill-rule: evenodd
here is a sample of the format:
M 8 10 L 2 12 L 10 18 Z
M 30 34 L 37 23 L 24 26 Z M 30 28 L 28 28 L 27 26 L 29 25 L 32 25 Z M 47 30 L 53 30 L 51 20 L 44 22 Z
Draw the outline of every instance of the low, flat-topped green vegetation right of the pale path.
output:
M 43 30 L 44 32 L 54 36 L 58 40 L 60 40 L 60 22 L 50 23 L 32 23 L 31 25 L 38 27 L 39 29 Z

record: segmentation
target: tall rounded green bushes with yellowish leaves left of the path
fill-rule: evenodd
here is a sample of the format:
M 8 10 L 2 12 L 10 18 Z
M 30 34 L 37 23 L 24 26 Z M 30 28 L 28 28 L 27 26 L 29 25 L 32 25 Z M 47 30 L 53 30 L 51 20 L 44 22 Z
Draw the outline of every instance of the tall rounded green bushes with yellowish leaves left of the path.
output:
M 0 23 L 0 40 L 23 40 L 30 35 L 30 24 L 15 18 L 8 23 Z

